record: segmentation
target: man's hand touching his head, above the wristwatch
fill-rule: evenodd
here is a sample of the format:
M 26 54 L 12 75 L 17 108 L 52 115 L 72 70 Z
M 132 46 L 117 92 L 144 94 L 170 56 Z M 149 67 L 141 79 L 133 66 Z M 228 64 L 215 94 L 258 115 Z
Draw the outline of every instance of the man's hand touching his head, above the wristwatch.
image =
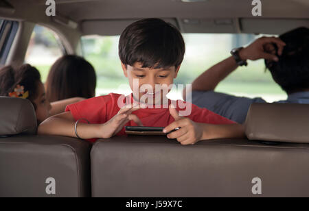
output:
M 270 53 L 267 51 L 267 48 L 269 45 L 277 45 L 278 52 Z M 248 47 L 242 49 L 240 51 L 240 58 L 242 60 L 259 60 L 259 59 L 266 59 L 266 60 L 272 60 L 275 62 L 279 61 L 279 58 L 277 58 L 276 53 L 278 55 L 282 55 L 282 51 L 284 49 L 284 46 L 286 46 L 286 43 L 284 43 L 281 39 L 275 38 L 275 37 L 262 37 L 258 40 L 255 40 L 251 45 Z

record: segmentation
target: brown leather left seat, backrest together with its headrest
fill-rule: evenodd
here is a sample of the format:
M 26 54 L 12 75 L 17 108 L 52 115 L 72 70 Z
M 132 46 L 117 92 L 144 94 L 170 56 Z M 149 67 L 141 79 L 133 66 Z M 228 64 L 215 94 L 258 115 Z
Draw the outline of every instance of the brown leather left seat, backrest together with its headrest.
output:
M 0 119 L 0 197 L 91 196 L 88 142 L 36 136 L 25 99 L 0 97 Z

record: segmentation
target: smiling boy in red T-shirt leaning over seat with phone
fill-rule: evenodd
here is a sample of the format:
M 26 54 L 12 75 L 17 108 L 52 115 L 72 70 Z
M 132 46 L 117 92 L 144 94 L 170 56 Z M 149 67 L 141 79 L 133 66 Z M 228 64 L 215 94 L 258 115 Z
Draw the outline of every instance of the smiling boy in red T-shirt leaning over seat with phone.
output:
M 176 138 L 181 145 L 193 145 L 206 139 L 244 137 L 242 125 L 189 103 L 190 114 L 180 116 L 179 104 L 183 102 L 166 100 L 184 54 L 181 33 L 161 19 L 148 18 L 129 25 L 119 40 L 119 58 L 133 95 L 124 98 L 112 93 L 69 105 L 66 112 L 43 122 L 38 134 L 93 142 L 93 138 L 125 135 L 124 126 L 145 125 L 165 127 L 166 134 L 180 128 L 168 134 L 168 138 Z M 89 124 L 79 122 L 82 119 Z

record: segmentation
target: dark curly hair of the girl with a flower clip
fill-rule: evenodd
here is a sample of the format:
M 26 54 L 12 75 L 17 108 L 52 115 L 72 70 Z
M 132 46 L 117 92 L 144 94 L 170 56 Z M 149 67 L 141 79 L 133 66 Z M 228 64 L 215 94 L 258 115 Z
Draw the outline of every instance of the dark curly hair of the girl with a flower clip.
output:
M 30 64 L 23 64 L 18 68 L 4 66 L 0 69 L 0 96 L 9 96 L 14 92 L 17 85 L 23 86 L 25 92 L 29 92 L 29 99 L 34 108 L 34 100 L 38 97 L 38 84 L 41 82 L 41 75 L 38 70 Z

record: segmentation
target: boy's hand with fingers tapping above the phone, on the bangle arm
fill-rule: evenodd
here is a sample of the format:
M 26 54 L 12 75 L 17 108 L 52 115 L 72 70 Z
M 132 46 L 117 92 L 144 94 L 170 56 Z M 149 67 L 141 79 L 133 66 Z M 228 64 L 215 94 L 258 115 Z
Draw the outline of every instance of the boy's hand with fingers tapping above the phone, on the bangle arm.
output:
M 141 120 L 132 112 L 139 110 L 138 105 L 126 105 L 104 125 L 101 125 L 100 134 L 102 138 L 111 138 L 122 130 L 129 121 L 134 121 L 138 126 L 143 126 Z

